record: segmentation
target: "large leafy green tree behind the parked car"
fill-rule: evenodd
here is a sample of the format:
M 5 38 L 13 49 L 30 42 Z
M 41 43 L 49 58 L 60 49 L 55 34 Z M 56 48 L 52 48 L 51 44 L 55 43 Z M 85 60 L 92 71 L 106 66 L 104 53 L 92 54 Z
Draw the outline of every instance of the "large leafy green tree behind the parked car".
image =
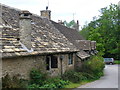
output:
M 97 42 L 97 50 L 104 57 L 120 58 L 119 10 L 115 4 L 102 8 L 101 15 L 80 32 L 86 39 Z

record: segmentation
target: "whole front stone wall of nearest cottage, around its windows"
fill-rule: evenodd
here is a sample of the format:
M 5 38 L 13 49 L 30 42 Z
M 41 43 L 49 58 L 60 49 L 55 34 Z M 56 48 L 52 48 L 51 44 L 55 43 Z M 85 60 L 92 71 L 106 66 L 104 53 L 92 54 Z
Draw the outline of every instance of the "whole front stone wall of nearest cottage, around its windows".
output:
M 62 54 L 56 54 L 58 57 L 58 68 L 51 68 L 46 70 L 46 56 L 29 56 L 6 58 L 2 61 L 2 76 L 6 74 L 10 76 L 18 76 L 20 78 L 29 79 L 29 73 L 32 68 L 40 69 L 47 72 L 50 76 L 58 76 L 63 74 L 66 70 L 74 69 L 75 54 L 73 54 L 73 64 L 68 65 L 68 54 L 63 54 L 63 60 L 60 60 Z

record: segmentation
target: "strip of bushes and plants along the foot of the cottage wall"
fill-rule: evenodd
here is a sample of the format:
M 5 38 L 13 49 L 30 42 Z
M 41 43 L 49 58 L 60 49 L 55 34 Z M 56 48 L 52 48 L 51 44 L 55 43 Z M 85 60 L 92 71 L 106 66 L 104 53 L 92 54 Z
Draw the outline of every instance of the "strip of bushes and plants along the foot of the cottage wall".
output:
M 32 69 L 30 72 L 30 80 L 25 81 L 18 79 L 16 76 L 10 78 L 9 75 L 3 78 L 3 88 L 27 88 L 32 89 L 50 89 L 50 88 L 71 88 L 79 86 L 80 83 L 89 82 L 99 79 L 103 75 L 103 58 L 93 56 L 90 60 L 85 61 L 81 68 L 66 71 L 62 77 L 48 77 L 46 73 L 38 69 Z

